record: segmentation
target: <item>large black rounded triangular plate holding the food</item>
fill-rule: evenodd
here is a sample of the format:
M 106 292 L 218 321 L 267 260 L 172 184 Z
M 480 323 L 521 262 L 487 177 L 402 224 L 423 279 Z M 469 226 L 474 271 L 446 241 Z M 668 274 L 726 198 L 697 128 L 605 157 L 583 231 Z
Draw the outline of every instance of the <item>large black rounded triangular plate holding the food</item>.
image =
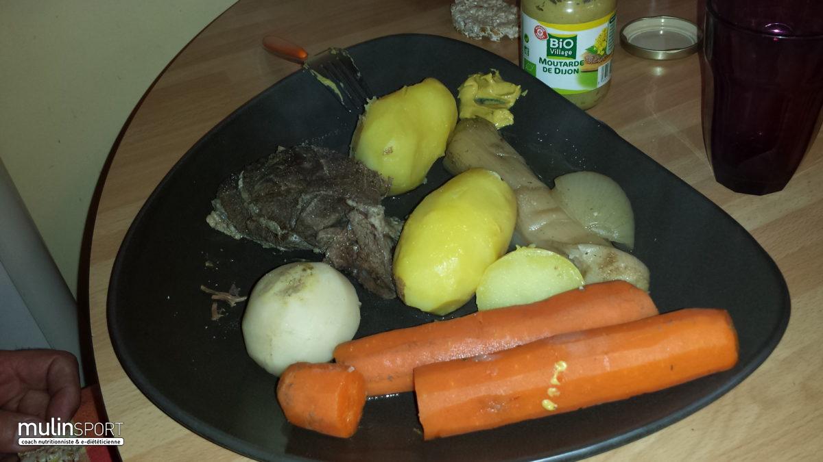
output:
M 473 72 L 500 70 L 528 90 L 502 131 L 544 178 L 588 169 L 625 189 L 635 210 L 635 255 L 652 274 L 661 311 L 723 307 L 740 335 L 728 372 L 658 393 L 486 432 L 424 442 L 413 395 L 366 404 L 356 436 L 342 440 L 291 427 L 275 399 L 276 377 L 245 353 L 243 307 L 211 321 L 200 285 L 248 293 L 268 270 L 299 258 L 212 230 L 205 217 L 230 173 L 276 146 L 305 141 L 346 151 L 356 123 L 307 72 L 286 77 L 218 124 L 151 194 L 120 248 L 109 287 L 109 330 L 137 387 L 194 432 L 260 460 L 560 460 L 625 444 L 676 422 L 732 389 L 771 353 L 788 323 L 789 298 L 770 256 L 714 203 L 511 62 L 453 39 L 393 35 L 349 49 L 377 95 L 433 76 L 449 89 Z M 405 216 L 447 178 L 438 162 L 422 187 L 387 199 Z M 207 266 L 210 261 L 213 266 Z M 397 300 L 358 287 L 357 335 L 430 321 Z M 473 303 L 453 316 L 472 312 Z M 746 423 L 741 422 L 741 425 Z

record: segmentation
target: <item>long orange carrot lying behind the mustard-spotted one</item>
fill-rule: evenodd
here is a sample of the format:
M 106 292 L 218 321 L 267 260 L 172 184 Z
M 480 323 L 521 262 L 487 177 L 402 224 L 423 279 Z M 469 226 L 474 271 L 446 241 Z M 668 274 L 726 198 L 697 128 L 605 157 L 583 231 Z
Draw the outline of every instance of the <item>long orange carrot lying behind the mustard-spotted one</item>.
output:
M 494 353 L 551 335 L 658 314 L 649 294 L 624 281 L 584 286 L 541 302 L 389 330 L 337 345 L 337 363 L 356 367 L 370 396 L 413 388 L 424 364 Z

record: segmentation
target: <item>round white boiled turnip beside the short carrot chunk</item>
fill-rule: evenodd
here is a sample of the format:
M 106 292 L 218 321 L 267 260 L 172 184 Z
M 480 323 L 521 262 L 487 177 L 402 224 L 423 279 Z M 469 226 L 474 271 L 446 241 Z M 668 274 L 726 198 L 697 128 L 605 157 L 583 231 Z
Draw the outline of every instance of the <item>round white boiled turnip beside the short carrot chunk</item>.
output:
M 319 262 L 290 263 L 264 275 L 243 315 L 249 356 L 279 376 L 293 363 L 324 363 L 360 326 L 360 301 L 351 282 Z

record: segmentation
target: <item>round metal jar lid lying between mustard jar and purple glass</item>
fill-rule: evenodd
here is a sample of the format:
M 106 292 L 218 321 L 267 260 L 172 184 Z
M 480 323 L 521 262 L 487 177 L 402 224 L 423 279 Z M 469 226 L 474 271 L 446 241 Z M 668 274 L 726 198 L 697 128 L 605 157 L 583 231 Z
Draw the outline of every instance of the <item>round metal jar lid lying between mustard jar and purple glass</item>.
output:
M 697 51 L 702 39 L 694 22 L 675 16 L 641 17 L 620 31 L 623 49 L 646 59 L 686 58 Z

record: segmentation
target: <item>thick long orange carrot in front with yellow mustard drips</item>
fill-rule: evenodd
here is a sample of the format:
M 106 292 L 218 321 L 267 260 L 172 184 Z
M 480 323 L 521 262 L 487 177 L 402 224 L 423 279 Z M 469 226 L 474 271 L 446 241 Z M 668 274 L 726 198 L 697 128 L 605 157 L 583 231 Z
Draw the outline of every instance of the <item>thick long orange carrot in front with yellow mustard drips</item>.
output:
M 426 440 L 625 400 L 732 368 L 728 312 L 690 308 L 415 369 Z

